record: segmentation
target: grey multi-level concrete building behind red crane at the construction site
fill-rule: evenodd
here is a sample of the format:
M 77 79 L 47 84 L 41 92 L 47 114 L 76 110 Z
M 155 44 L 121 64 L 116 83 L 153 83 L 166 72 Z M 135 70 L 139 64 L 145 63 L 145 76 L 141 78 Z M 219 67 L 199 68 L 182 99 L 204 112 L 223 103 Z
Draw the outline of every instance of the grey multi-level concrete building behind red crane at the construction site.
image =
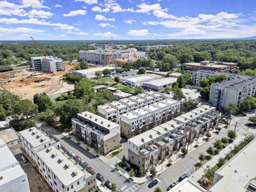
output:
M 33 71 L 48 71 L 47 64 L 49 67 L 49 71 L 57 72 L 59 70 L 65 71 L 65 65 L 62 62 L 61 58 L 52 57 L 52 56 L 42 56 L 42 57 L 31 57 L 31 63 Z

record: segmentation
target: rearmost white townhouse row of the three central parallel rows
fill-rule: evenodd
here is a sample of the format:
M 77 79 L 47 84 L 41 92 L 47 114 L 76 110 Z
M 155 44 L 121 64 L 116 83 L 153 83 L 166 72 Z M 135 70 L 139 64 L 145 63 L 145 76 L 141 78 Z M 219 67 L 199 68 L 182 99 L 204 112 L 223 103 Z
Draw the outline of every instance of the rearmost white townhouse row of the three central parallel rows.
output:
M 112 122 L 119 123 L 120 115 L 130 112 L 131 110 L 140 109 L 162 99 L 163 95 L 161 93 L 153 91 L 140 93 L 136 96 L 126 98 L 126 100 L 119 100 L 107 103 L 105 105 L 98 105 L 98 115 Z

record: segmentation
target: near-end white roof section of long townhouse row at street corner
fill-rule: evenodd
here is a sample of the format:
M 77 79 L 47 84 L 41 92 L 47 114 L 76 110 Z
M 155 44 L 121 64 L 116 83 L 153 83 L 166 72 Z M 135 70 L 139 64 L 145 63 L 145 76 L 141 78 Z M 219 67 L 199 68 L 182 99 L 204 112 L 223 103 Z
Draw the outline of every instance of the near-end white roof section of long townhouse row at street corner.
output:
M 150 135 L 152 135 L 152 138 L 150 137 Z M 153 139 L 155 139 L 157 137 L 161 137 L 161 136 L 162 135 L 158 135 L 156 131 L 151 129 L 144 133 L 136 135 L 135 137 L 128 139 L 128 141 L 132 142 L 136 146 L 141 146 L 141 145 L 144 145 L 145 143 L 150 142 Z M 141 141 L 142 138 L 144 139 L 144 142 Z

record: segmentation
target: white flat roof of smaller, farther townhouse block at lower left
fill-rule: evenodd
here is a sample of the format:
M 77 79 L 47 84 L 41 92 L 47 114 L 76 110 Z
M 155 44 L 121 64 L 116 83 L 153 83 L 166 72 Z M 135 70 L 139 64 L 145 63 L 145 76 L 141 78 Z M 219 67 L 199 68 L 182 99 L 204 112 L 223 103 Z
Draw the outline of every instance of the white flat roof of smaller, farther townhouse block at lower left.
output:
M 32 135 L 33 132 L 35 133 L 34 135 Z M 34 148 L 51 141 L 49 137 L 37 130 L 36 127 L 31 127 L 29 129 L 20 131 L 19 134 L 22 135 Z M 39 138 L 36 138 L 37 135 Z M 41 139 L 44 141 L 40 142 Z

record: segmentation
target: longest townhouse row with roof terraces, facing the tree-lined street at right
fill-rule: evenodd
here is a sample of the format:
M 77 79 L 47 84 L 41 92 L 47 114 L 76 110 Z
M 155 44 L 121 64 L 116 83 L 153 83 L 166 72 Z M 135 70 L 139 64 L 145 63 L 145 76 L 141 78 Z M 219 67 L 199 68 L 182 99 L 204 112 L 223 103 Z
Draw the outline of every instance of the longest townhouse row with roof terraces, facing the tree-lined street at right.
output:
M 173 120 L 128 139 L 130 161 L 145 170 L 157 165 L 174 151 L 218 125 L 220 113 L 203 105 Z

